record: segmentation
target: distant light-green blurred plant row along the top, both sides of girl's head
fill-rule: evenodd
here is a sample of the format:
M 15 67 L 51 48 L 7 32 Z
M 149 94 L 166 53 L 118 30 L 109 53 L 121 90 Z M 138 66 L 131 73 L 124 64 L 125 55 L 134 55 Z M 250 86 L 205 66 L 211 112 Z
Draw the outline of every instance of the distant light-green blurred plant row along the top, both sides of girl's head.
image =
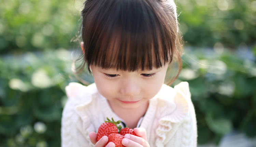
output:
M 255 0 L 174 0 L 187 46 L 251 47 Z M 70 48 L 84 0 L 0 0 L 0 54 Z

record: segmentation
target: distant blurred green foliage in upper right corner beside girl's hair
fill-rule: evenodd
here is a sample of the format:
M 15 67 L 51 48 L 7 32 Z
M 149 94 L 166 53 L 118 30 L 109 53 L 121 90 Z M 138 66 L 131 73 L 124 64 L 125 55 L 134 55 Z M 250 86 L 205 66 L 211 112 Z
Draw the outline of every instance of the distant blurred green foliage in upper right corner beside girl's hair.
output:
M 236 49 L 256 43 L 254 0 L 177 0 L 176 5 L 187 45 L 213 47 L 220 42 Z

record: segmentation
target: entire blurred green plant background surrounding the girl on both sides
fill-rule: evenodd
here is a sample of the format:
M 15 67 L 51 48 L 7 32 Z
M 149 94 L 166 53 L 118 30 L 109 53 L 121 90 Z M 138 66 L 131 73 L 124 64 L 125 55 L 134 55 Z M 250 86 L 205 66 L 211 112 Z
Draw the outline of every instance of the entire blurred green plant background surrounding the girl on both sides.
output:
M 198 144 L 256 136 L 256 1 L 178 0 Z M 59 147 L 81 0 L 0 0 L 0 146 Z M 93 82 L 86 74 L 82 79 Z M 254 145 L 256 146 L 256 145 Z

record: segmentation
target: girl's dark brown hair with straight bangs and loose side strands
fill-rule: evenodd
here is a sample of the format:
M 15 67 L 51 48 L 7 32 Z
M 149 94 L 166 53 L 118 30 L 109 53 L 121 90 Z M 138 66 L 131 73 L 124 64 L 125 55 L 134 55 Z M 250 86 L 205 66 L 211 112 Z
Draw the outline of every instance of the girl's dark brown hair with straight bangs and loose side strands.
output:
M 173 0 L 86 0 L 81 13 L 83 64 L 136 71 L 167 63 L 181 71 L 181 37 Z M 171 82 L 169 84 L 171 84 Z

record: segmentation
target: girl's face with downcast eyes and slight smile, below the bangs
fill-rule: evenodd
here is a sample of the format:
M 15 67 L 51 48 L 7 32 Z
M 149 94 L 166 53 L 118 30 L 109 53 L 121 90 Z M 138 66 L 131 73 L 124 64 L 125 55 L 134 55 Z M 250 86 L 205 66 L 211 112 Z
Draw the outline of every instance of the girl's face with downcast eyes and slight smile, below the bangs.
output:
M 161 89 L 168 65 L 151 71 L 117 71 L 91 66 L 99 93 L 112 109 L 136 109 L 148 104 Z

